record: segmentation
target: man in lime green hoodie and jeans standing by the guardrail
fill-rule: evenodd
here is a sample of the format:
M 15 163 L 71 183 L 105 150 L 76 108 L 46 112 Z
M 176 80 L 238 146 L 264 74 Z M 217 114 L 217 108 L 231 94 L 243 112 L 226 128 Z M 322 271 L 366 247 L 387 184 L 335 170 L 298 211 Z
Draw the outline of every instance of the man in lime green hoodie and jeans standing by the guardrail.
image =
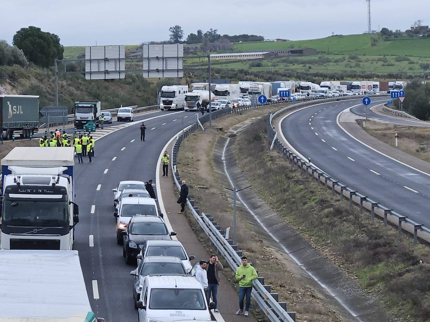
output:
M 249 305 L 251 304 L 252 281 L 258 277 L 255 268 L 248 264 L 248 258 L 242 257 L 242 265 L 237 267 L 236 280 L 239 281 L 239 310 L 236 315 L 243 312 L 243 300 L 246 295 L 246 307 L 244 316 L 248 316 Z

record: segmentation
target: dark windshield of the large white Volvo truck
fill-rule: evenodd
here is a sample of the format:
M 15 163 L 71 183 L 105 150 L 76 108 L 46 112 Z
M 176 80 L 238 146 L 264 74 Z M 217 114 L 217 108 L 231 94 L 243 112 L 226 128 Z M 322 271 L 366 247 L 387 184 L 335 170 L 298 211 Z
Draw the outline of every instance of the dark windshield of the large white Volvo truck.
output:
M 24 222 L 28 226 L 58 225 L 69 221 L 68 202 L 52 199 L 6 199 L 3 203 L 3 220 Z

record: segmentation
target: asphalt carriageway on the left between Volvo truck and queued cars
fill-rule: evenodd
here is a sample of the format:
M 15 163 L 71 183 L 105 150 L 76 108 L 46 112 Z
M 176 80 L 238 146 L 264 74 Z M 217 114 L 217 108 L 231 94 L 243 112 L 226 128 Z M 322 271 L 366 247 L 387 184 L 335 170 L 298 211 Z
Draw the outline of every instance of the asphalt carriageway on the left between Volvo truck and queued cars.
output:
M 136 120 L 157 115 L 144 115 Z M 166 143 L 181 130 L 183 117 L 184 126 L 196 121 L 195 112 L 179 112 L 145 121 L 146 142 L 140 141 L 139 124 L 116 131 L 96 141 L 92 163 L 84 158 L 84 164 L 75 166 L 75 201 L 80 206 L 80 222 L 75 231 L 74 248 L 80 252 L 91 306 L 97 316 L 107 321 L 138 320 L 133 305 L 132 276 L 129 275 L 135 266 L 125 264 L 122 246 L 116 242 L 112 189 L 121 180 L 156 180 L 158 157 Z M 98 185 L 101 185 L 99 190 Z M 95 205 L 93 214 L 92 205 Z M 90 235 L 94 240 L 92 247 Z M 94 292 L 95 283 L 98 296 Z

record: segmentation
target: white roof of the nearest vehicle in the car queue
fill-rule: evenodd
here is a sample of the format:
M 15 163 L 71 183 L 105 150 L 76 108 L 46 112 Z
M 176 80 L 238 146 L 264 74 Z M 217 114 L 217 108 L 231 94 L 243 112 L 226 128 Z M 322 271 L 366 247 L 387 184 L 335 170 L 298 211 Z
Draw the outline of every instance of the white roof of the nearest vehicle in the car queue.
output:
M 145 277 L 151 289 L 202 289 L 202 284 L 192 275 L 147 275 Z

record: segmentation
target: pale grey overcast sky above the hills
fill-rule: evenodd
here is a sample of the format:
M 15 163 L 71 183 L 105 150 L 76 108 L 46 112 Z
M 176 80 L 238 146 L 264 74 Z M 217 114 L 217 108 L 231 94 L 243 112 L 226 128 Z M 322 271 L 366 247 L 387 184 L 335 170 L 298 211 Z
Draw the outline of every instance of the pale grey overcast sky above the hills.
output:
M 265 38 L 314 39 L 367 30 L 365 0 L 2 0 L 0 39 L 12 43 L 31 25 L 57 34 L 64 46 L 132 45 L 169 39 L 179 24 L 184 38 L 197 29 Z M 209 6 L 209 4 L 211 5 Z M 179 5 L 180 4 L 180 5 Z M 372 0 L 372 29 L 430 24 L 430 0 Z

